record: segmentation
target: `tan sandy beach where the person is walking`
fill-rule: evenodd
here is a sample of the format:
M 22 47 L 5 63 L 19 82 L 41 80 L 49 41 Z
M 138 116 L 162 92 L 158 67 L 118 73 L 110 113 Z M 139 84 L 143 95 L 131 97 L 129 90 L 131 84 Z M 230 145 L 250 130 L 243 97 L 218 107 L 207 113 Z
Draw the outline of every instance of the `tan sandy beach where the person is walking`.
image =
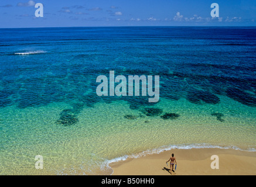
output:
M 175 173 L 169 172 L 166 161 L 174 153 Z M 211 169 L 211 155 L 219 156 L 219 169 Z M 201 148 L 170 150 L 141 158 L 128 158 L 110 165 L 112 175 L 256 175 L 256 152 Z

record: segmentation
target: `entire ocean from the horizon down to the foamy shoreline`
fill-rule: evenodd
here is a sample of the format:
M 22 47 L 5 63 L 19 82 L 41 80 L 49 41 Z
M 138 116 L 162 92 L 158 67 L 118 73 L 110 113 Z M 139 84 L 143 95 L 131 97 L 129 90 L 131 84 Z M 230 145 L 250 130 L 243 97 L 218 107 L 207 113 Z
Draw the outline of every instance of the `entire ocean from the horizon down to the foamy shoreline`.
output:
M 159 75 L 159 102 L 98 96 L 110 71 Z M 256 151 L 256 27 L 0 29 L 0 75 L 0 175 L 111 175 L 111 162 L 173 148 Z

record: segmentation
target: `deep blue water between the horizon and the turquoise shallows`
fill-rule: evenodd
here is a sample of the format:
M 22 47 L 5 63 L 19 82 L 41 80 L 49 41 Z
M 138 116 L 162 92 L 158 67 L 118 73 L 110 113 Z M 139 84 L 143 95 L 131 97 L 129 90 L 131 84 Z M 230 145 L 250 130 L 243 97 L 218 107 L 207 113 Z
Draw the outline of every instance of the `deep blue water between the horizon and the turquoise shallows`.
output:
M 95 79 L 110 70 L 115 75 L 160 75 L 161 98 L 214 104 L 218 94 L 256 106 L 255 27 L 71 27 L 0 33 L 1 108 L 63 101 L 91 106 L 102 99 L 95 95 Z M 131 108 L 148 105 L 146 98 L 122 99 Z

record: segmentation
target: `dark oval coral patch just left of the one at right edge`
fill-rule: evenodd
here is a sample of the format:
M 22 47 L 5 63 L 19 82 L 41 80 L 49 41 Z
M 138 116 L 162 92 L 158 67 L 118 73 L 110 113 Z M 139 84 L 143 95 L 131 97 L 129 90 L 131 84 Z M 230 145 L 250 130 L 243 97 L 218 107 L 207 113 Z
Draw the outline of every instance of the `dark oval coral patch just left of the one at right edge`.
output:
M 194 90 L 190 91 L 187 94 L 187 100 L 192 103 L 202 104 L 201 101 L 210 103 L 210 104 L 217 104 L 220 102 L 220 98 L 208 91 L 199 91 Z

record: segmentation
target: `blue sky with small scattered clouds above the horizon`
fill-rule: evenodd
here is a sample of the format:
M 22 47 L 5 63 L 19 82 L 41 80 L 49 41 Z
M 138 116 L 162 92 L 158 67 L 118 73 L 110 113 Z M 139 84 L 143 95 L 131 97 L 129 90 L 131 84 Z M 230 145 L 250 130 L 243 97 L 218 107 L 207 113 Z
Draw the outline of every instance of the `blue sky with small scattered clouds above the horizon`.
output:
M 43 4 L 43 18 L 35 4 Z M 211 4 L 220 17 L 211 18 Z M 256 26 L 255 0 L 1 0 L 0 27 Z

